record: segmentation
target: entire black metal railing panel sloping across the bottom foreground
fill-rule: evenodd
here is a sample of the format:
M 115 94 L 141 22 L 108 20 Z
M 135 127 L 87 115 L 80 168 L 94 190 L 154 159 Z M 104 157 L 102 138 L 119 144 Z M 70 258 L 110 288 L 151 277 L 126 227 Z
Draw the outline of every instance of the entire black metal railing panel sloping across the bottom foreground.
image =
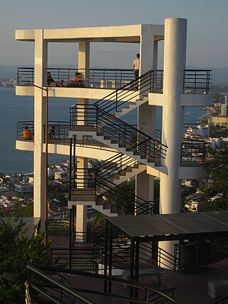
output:
M 140 283 L 135 283 L 113 276 L 104 276 L 96 273 L 88 273 L 86 271 L 77 271 L 56 266 L 42 266 L 30 264 L 28 268 L 28 289 L 32 300 L 37 297 L 48 299 L 50 303 L 81 303 L 95 304 L 101 303 L 103 297 L 107 297 L 107 301 L 116 300 L 123 303 L 149 304 L 151 297 L 157 296 L 157 303 L 176 303 L 176 301 L 162 291 L 155 290 Z M 73 284 L 67 281 L 61 281 L 55 273 L 61 276 L 72 275 L 78 278 Z M 64 276 L 64 277 L 65 277 Z M 87 283 L 87 280 L 90 283 Z M 42 283 L 40 283 L 42 282 Z M 108 290 L 105 288 L 108 283 Z M 95 284 L 95 285 L 94 285 Z M 125 293 L 118 291 L 118 285 L 125 285 Z M 93 287 L 95 286 L 95 288 Z M 104 289 L 103 289 L 104 288 Z M 123 288 L 121 288 L 122 290 Z M 53 295 L 53 290 L 56 292 Z M 134 293 L 133 293 L 134 290 Z M 64 293 L 63 293 L 64 292 Z M 61 298 L 61 295 L 64 298 Z M 91 300 L 90 296 L 95 300 Z M 65 302 L 66 297 L 71 302 Z

